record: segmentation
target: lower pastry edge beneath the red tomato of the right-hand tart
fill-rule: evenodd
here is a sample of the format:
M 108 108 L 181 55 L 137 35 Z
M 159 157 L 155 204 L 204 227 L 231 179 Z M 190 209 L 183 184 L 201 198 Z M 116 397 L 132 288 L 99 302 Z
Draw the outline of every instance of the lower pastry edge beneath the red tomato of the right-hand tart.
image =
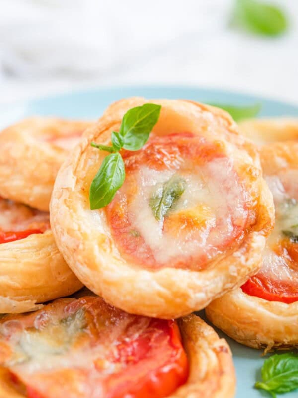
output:
M 237 288 L 205 309 L 207 318 L 238 343 L 252 348 L 298 348 L 298 302 L 249 296 Z

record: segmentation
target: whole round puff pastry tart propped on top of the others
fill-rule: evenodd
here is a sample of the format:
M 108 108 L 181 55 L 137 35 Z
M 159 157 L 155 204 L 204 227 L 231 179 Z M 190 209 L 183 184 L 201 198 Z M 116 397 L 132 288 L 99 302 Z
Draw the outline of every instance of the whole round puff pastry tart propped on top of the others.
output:
M 161 105 L 149 141 L 122 150 L 126 178 L 90 210 L 89 187 L 123 115 L 112 105 L 60 169 L 51 224 L 64 258 L 93 292 L 127 312 L 176 318 L 205 307 L 255 273 L 273 202 L 254 146 L 227 113 L 186 100 Z M 174 206 L 161 214 L 168 198 Z

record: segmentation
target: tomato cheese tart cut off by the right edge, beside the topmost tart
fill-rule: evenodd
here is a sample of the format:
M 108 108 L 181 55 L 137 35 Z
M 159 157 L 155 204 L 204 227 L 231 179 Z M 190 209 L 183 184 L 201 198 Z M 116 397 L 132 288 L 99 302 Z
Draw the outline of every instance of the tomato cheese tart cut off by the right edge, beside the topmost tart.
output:
M 262 165 L 276 214 L 262 268 L 241 288 L 213 301 L 206 313 L 250 347 L 298 347 L 298 142 L 264 146 Z

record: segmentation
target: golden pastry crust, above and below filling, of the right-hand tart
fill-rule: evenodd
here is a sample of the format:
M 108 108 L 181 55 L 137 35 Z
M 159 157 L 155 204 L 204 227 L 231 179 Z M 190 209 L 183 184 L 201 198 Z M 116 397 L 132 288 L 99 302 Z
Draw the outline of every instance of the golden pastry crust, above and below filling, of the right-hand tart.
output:
M 298 167 L 298 142 L 276 142 L 262 147 L 264 173 Z M 252 348 L 298 347 L 298 301 L 286 304 L 249 296 L 241 288 L 214 300 L 208 319 L 228 336 Z

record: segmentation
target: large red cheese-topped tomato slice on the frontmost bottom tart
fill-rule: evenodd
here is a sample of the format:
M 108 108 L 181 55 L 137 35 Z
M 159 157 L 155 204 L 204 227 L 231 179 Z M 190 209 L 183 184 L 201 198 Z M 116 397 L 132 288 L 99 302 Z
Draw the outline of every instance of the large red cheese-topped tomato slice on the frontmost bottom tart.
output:
M 163 398 L 188 377 L 175 321 L 130 315 L 99 297 L 6 315 L 1 342 L 11 357 L 0 366 L 25 386 L 28 398 Z

